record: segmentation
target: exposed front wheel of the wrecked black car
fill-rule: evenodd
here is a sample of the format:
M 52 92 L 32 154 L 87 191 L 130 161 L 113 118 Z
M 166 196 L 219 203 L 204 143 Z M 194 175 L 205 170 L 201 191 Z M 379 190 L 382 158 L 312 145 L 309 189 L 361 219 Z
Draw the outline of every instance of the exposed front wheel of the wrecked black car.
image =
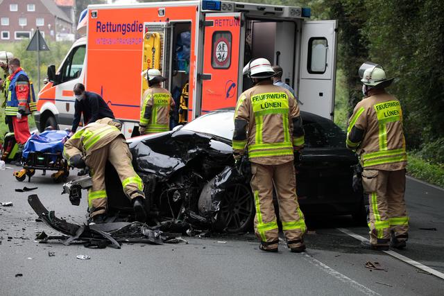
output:
M 225 190 L 219 207 L 219 222 L 228 233 L 247 232 L 253 224 L 255 207 L 248 186 L 232 184 Z

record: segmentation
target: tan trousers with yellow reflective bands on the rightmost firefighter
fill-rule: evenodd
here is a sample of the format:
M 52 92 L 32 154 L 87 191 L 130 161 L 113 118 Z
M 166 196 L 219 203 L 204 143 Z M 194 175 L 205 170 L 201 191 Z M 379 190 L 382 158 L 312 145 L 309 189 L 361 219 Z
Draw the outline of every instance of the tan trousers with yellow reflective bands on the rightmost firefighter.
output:
M 409 217 L 404 201 L 405 169 L 364 169 L 362 185 L 368 194 L 370 243 L 388 245 L 392 233 L 396 240 L 407 241 Z

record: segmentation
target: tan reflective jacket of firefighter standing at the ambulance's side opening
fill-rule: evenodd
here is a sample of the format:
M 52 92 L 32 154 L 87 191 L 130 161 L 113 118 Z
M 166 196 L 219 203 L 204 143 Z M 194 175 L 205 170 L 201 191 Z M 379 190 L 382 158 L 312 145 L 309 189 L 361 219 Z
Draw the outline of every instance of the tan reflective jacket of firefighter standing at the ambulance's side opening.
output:
M 169 114 L 176 103 L 171 94 L 162 87 L 150 87 L 142 95 L 139 125 L 146 126 L 146 133 L 167 132 Z

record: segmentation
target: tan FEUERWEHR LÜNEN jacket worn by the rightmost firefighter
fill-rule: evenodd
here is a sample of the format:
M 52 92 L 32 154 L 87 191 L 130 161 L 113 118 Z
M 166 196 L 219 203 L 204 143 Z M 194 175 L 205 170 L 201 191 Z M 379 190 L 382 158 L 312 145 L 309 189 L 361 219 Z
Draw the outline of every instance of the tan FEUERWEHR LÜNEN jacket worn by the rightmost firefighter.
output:
M 397 171 L 407 165 L 400 101 L 384 90 L 359 102 L 348 121 L 347 147 L 364 168 Z

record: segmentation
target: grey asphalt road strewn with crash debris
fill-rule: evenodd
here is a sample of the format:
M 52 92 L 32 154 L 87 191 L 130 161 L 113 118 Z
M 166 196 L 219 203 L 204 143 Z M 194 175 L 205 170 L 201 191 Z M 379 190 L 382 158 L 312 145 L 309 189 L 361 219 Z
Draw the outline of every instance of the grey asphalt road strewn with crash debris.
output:
M 28 183 L 17 182 L 12 170 L 0 171 L 0 202 L 14 204 L 0 207 L 0 295 L 443 295 L 444 279 L 384 252 L 360 249 L 349 234 L 367 237 L 367 229 L 348 216 L 308 217 L 308 250 L 302 254 L 284 244 L 278 254 L 264 253 L 251 234 L 125 244 L 121 250 L 40 244 L 36 232 L 56 232 L 35 222 L 30 193 L 15 189 L 38 186 L 31 193 L 76 223 L 85 221 L 87 207 L 85 198 L 72 206 L 51 173 L 40 174 Z M 410 239 L 407 250 L 397 253 L 444 272 L 444 191 L 409 179 L 406 199 Z M 78 254 L 91 259 L 76 259 Z M 365 268 L 367 261 L 384 270 Z

